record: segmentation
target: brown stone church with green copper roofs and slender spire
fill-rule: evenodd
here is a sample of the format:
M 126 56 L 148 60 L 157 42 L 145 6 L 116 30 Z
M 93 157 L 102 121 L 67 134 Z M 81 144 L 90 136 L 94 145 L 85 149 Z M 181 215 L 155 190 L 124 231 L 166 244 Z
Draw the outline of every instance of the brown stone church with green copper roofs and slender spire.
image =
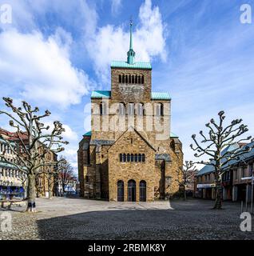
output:
M 132 22 L 127 62 L 111 63 L 111 90 L 91 94 L 91 131 L 79 149 L 84 198 L 152 202 L 179 193 L 181 141 L 170 130 L 171 98 L 152 91 L 152 66 L 135 62 Z

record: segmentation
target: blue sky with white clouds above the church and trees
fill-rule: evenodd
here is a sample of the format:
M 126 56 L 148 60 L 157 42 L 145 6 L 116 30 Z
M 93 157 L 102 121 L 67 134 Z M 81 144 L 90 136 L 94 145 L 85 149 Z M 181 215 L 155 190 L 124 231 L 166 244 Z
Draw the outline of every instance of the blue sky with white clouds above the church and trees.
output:
M 0 0 L 12 23 L 0 22 L 1 97 L 26 99 L 62 121 L 77 166 L 77 146 L 89 130 L 89 96 L 109 90 L 110 62 L 125 60 L 129 18 L 138 61 L 153 66 L 153 90 L 168 91 L 172 130 L 186 160 L 191 135 L 224 110 L 253 134 L 254 22 L 240 23 L 247 0 Z M 252 19 L 254 12 L 252 12 Z M 2 102 L 0 107 L 4 108 Z M 0 117 L 0 126 L 7 122 Z

